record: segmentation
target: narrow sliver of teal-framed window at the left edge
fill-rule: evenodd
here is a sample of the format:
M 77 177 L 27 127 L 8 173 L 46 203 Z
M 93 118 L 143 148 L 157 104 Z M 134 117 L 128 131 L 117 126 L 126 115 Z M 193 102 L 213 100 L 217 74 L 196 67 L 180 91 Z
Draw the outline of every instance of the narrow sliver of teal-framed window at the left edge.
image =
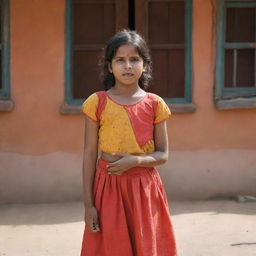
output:
M 9 87 L 9 6 L 7 0 L 0 1 L 0 100 L 10 98 Z

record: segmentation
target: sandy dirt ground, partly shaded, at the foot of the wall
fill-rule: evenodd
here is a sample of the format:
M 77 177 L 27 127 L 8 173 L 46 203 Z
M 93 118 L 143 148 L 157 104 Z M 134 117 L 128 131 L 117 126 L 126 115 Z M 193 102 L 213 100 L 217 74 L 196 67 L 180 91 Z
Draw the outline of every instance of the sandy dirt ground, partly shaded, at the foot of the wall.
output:
M 169 205 L 180 256 L 256 256 L 256 203 Z M 0 205 L 0 256 L 79 256 L 83 228 L 82 202 Z

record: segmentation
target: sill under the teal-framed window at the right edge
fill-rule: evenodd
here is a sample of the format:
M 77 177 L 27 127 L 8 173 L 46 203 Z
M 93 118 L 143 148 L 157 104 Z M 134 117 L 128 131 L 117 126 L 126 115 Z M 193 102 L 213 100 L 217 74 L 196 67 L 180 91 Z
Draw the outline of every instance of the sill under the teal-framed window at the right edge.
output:
M 217 109 L 250 109 L 256 108 L 256 98 L 237 98 L 215 101 Z

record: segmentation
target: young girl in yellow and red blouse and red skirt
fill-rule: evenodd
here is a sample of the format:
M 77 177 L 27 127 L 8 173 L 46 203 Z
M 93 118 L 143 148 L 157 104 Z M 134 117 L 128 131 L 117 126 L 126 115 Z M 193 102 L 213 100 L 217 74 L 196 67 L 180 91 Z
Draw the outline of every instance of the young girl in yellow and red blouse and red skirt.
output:
M 168 158 L 170 110 L 145 91 L 151 78 L 145 41 L 134 31 L 117 33 L 103 65 L 105 91 L 83 103 L 81 256 L 176 256 L 166 193 L 154 168 Z

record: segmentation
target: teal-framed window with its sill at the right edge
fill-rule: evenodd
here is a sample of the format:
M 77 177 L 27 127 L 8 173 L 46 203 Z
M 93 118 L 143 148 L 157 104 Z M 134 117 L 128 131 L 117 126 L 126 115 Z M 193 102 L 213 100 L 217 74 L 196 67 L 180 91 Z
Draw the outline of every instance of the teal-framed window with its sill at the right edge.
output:
M 255 103 L 251 99 L 256 97 L 256 1 L 220 2 L 216 57 L 217 107 L 239 108 L 239 101 L 243 102 L 240 107 L 253 107 Z

